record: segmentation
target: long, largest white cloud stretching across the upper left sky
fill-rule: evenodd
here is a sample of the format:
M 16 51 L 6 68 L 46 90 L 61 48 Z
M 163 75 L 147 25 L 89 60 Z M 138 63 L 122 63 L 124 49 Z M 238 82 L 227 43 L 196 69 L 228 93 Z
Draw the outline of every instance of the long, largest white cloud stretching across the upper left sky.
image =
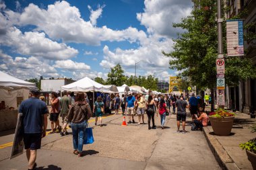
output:
M 48 5 L 47 10 L 30 3 L 22 13 L 6 10 L 5 20 L 8 19 L 11 24 L 18 26 L 36 26 L 36 30 L 44 31 L 49 38 L 63 40 L 63 42 L 100 45 L 102 41 L 129 40 L 129 42 L 136 42 L 146 38 L 145 32 L 139 31 L 137 28 L 111 30 L 106 26 L 102 26 L 102 28 L 94 26 L 95 19 L 98 18 L 96 13 L 102 13 L 103 7 L 91 11 L 94 13 L 92 14 L 94 17 L 91 15 L 92 21 L 86 22 L 81 17 L 79 9 L 70 6 L 67 1 L 57 1 L 54 5 Z

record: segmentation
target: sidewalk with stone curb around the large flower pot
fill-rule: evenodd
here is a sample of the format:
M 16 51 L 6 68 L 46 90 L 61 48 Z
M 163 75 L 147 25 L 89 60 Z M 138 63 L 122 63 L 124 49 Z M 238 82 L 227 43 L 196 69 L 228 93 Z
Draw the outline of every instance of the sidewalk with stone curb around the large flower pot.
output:
M 214 135 L 212 126 L 203 128 L 212 153 L 223 169 L 253 169 L 247 159 L 247 154 L 239 147 L 239 144 L 255 137 L 256 134 L 251 133 L 249 128 L 254 122 L 255 118 L 251 119 L 247 114 L 236 112 L 230 136 Z

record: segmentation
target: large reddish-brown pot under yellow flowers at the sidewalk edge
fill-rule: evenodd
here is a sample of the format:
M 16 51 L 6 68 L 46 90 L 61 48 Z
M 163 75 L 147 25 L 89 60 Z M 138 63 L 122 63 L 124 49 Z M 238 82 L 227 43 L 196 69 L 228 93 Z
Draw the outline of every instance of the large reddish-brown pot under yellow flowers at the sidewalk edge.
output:
M 219 136 L 228 136 L 233 126 L 234 116 L 225 118 L 210 117 L 210 122 L 212 129 L 214 130 L 214 134 Z

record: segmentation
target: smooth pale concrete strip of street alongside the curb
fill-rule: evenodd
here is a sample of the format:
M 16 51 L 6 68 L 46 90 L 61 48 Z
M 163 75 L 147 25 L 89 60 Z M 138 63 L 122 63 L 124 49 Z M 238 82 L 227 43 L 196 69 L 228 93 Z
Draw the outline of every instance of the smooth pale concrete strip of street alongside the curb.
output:
M 191 121 L 191 118 L 187 117 L 187 121 Z M 210 151 L 203 132 L 191 131 L 190 124 L 186 124 L 187 133 L 177 133 L 176 115 L 173 114 L 168 118 L 165 126 L 170 128 L 164 129 L 146 165 L 146 170 L 221 169 Z

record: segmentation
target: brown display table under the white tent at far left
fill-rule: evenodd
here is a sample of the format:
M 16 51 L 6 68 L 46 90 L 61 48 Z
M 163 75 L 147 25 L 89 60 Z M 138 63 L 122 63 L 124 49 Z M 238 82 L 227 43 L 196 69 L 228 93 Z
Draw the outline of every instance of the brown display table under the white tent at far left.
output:
M 18 110 L 0 111 L 0 131 L 16 128 Z

